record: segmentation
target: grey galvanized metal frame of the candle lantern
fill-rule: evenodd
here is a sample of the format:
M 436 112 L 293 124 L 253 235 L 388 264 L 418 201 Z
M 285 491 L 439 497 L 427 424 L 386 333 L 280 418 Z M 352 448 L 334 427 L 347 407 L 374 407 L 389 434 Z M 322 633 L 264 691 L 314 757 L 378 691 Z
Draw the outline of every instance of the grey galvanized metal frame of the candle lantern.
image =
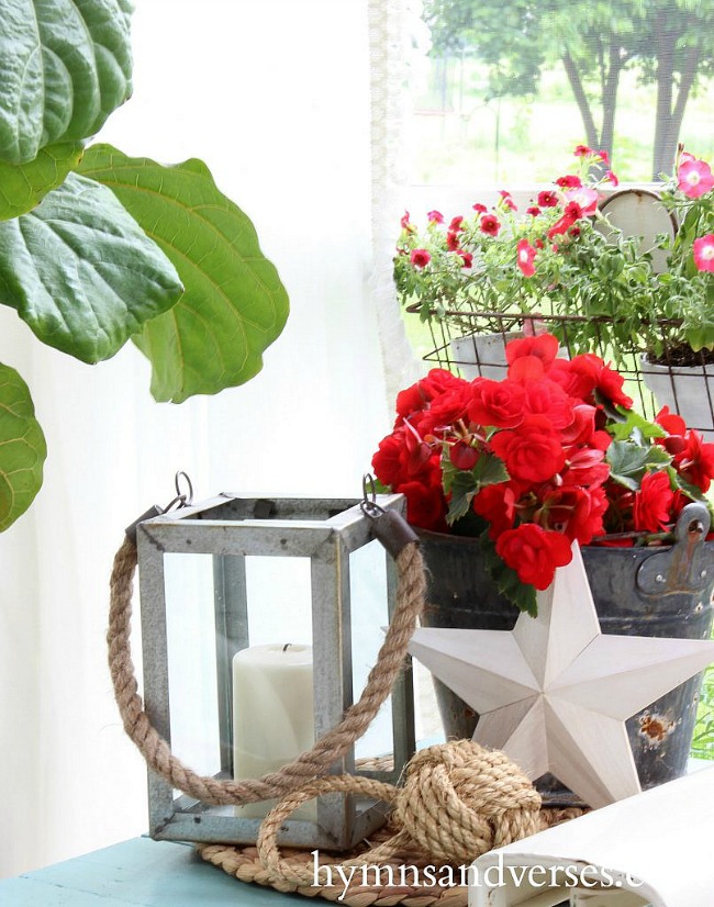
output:
M 377 495 L 383 510 L 404 511 L 402 495 Z M 171 719 L 164 556 L 213 557 L 220 764 L 215 775 L 233 777 L 232 660 L 249 645 L 245 559 L 250 556 L 310 559 L 315 736 L 336 726 L 353 703 L 349 556 L 373 539 L 370 518 L 355 500 L 258 497 L 223 493 L 161 514 L 137 527 L 144 698 L 147 715 L 170 743 Z M 387 604 L 395 603 L 395 569 L 386 555 Z M 334 603 L 325 607 L 325 603 Z M 360 769 L 354 748 L 332 771 L 395 783 L 414 753 L 411 662 L 394 685 L 393 763 Z M 177 795 L 178 794 L 178 795 Z M 148 773 L 149 833 L 158 840 L 255 842 L 260 819 L 236 816 L 233 806 L 209 806 L 179 794 Z M 317 820 L 288 820 L 283 844 L 347 849 L 383 822 L 375 800 L 330 794 L 317 800 Z

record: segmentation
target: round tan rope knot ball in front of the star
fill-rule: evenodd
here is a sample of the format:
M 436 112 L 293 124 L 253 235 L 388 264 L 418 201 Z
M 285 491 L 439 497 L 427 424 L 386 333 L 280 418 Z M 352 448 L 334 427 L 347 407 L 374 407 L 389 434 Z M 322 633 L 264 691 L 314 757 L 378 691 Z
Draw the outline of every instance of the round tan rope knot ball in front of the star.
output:
M 454 740 L 413 757 L 394 811 L 425 853 L 458 864 L 535 833 L 539 809 L 539 794 L 504 753 Z

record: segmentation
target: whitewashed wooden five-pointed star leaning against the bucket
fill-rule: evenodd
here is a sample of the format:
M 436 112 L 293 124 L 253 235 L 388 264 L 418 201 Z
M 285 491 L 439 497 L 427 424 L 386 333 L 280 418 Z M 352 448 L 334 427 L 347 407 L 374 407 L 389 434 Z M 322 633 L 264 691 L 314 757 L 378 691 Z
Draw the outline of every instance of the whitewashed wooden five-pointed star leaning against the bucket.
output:
M 714 641 L 609 636 L 573 545 L 511 631 L 416 630 L 410 652 L 475 708 L 473 740 L 592 807 L 640 791 L 625 720 L 714 661 Z

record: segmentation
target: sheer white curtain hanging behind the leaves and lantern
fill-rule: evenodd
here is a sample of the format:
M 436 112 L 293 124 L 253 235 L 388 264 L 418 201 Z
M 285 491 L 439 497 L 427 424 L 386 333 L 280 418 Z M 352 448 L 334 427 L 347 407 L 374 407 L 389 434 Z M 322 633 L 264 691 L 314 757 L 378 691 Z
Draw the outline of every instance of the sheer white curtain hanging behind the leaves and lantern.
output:
M 254 219 L 292 306 L 256 379 L 158 405 L 135 349 L 88 368 L 1 307 L 0 361 L 30 384 L 49 456 L 36 503 L 0 537 L 0 875 L 146 830 L 144 763 L 105 668 L 123 527 L 168 501 L 177 469 L 198 499 L 356 496 L 388 430 L 370 238 L 369 32 L 382 5 L 399 7 L 136 4 L 135 96 L 100 137 L 167 163 L 202 157 Z

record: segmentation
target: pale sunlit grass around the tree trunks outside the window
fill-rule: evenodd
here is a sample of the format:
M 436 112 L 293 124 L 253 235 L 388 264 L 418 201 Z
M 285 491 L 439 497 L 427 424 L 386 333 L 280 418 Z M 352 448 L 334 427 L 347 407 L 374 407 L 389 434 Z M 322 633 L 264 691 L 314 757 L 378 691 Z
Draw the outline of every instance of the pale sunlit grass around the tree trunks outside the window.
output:
M 483 101 L 478 65 L 448 65 L 444 96 L 434 61 L 427 60 L 424 85 L 410 122 L 412 183 L 497 183 L 514 188 L 549 182 L 571 164 L 584 142 L 582 120 L 561 69 L 546 71 L 538 96 Z M 714 158 L 714 80 L 704 80 L 690 97 L 680 135 L 699 157 Z M 613 169 L 623 181 L 651 178 L 656 93 L 625 71 L 617 94 Z M 594 110 L 598 115 L 598 110 Z M 497 135 L 498 131 L 498 135 Z M 497 147 L 498 146 L 498 147 Z

